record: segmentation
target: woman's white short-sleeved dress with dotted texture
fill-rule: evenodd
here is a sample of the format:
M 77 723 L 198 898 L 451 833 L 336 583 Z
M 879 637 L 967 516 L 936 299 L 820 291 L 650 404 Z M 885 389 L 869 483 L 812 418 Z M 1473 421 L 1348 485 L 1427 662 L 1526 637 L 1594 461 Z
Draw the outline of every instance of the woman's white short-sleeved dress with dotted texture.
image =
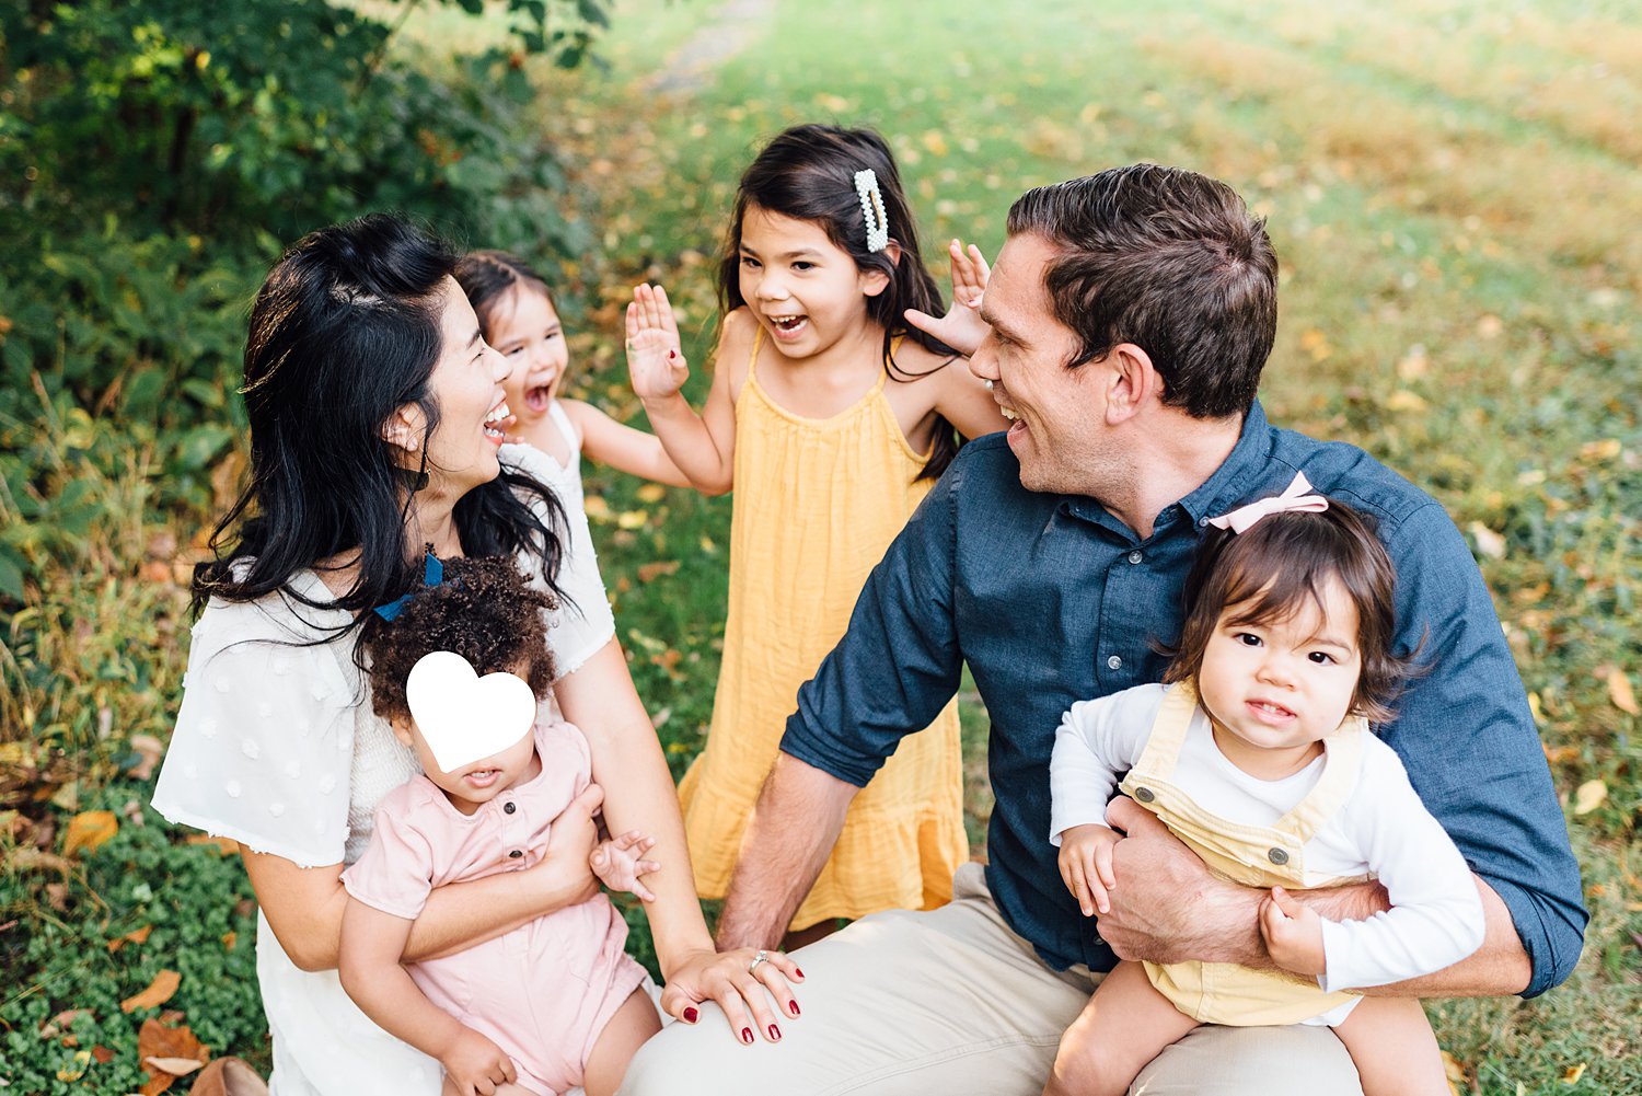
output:
M 529 445 L 507 445 L 501 458 L 555 488 L 563 480 L 565 468 Z M 547 641 L 565 675 L 609 642 L 616 621 L 580 500 L 562 501 L 568 536 L 558 587 L 568 598 Z M 545 585 L 540 575 L 532 583 Z M 310 570 L 291 588 L 315 601 L 332 596 Z M 194 626 L 154 810 L 304 868 L 358 859 L 378 802 L 420 766 L 371 711 L 369 682 L 353 665 L 356 633 L 297 646 L 348 621 L 346 610 L 282 595 L 212 600 Z M 437 1096 L 438 1061 L 376 1027 L 337 971 L 299 969 L 261 914 L 256 930 L 274 1096 Z

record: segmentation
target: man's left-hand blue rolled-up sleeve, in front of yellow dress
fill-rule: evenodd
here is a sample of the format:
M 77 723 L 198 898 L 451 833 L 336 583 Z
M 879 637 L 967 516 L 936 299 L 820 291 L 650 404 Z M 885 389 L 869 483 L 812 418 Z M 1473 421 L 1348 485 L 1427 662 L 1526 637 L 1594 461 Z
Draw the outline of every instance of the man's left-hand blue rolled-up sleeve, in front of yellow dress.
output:
M 798 690 L 782 753 L 865 787 L 901 738 L 957 692 L 952 495 L 947 468 L 867 578 L 844 638 Z

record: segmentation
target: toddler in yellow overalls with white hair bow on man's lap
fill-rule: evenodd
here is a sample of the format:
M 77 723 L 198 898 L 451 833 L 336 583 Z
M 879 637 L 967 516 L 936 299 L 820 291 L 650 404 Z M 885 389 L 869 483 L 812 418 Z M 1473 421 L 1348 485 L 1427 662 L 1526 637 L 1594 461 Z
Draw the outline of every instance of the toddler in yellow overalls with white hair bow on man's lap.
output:
M 1369 730 L 1406 670 L 1389 649 L 1396 573 L 1351 508 L 1281 496 L 1223 518 L 1187 580 L 1164 685 L 1084 700 L 1051 759 L 1051 841 L 1085 915 L 1118 884 L 1105 825 L 1121 790 L 1210 871 L 1269 887 L 1259 932 L 1281 971 L 1227 963 L 1118 963 L 1061 1040 L 1046 1093 L 1125 1093 L 1199 1024 L 1327 1024 L 1366 1096 L 1448 1093 L 1412 997 L 1361 997 L 1450 966 L 1483 940 L 1471 873 Z M 1319 917 L 1286 892 L 1374 879 L 1392 909 Z

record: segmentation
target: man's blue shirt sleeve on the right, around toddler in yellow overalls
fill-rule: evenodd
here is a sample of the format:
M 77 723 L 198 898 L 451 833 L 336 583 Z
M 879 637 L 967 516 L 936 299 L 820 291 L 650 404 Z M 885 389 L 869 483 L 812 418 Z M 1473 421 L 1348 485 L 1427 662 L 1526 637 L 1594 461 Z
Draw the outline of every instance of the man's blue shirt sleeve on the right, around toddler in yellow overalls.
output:
M 1387 547 L 1397 564 L 1404 649 L 1424 644 L 1424 674 L 1384 741 L 1471 869 L 1511 910 L 1534 965 L 1524 996 L 1562 983 L 1589 915 L 1522 679 L 1488 587 L 1460 531 L 1430 503 Z

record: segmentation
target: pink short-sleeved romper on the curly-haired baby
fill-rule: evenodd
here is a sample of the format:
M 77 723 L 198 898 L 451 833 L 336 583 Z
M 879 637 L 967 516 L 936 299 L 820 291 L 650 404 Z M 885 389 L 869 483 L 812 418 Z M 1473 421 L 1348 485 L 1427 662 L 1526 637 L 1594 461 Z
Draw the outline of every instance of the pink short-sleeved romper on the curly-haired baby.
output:
M 342 874 L 348 894 L 415 920 L 433 887 L 540 863 L 553 820 L 588 785 L 593 764 L 570 723 L 539 725 L 535 749 L 542 771 L 471 815 L 425 776 L 389 792 L 369 848 Z M 604 1024 L 644 981 L 626 942 L 627 923 L 599 894 L 406 969 L 429 1001 L 501 1047 L 522 1086 L 557 1096 L 581 1084 Z

